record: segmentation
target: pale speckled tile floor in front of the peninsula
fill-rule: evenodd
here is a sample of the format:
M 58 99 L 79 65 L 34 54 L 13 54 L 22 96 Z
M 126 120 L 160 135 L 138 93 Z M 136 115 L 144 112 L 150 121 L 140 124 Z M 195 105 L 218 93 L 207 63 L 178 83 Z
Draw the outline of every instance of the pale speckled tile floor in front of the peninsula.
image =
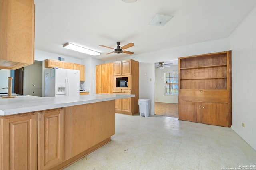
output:
M 256 150 L 231 128 L 116 113 L 112 141 L 65 170 L 221 170 L 256 165 Z

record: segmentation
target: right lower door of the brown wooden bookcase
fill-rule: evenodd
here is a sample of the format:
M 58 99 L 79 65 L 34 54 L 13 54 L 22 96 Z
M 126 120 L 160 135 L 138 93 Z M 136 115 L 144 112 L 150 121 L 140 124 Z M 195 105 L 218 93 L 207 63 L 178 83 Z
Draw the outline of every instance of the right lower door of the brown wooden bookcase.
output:
M 202 103 L 201 122 L 228 127 L 228 104 Z

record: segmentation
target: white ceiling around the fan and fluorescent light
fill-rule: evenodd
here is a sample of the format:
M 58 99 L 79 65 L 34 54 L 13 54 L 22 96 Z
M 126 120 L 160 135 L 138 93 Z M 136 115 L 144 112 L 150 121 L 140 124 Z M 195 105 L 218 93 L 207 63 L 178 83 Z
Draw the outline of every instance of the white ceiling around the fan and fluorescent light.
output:
M 70 42 L 112 60 L 129 54 L 112 49 L 130 42 L 134 56 L 150 51 L 228 37 L 256 6 L 256 0 L 35 0 L 35 48 L 78 59 L 92 57 L 62 45 Z M 148 23 L 155 14 L 174 16 L 165 26 Z

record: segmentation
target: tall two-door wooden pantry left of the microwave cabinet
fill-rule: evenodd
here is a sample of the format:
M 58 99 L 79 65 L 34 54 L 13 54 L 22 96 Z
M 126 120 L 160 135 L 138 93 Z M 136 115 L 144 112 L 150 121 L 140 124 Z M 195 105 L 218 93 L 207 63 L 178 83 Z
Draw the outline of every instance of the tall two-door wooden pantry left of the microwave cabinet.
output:
M 112 63 L 96 65 L 96 94 L 112 93 Z

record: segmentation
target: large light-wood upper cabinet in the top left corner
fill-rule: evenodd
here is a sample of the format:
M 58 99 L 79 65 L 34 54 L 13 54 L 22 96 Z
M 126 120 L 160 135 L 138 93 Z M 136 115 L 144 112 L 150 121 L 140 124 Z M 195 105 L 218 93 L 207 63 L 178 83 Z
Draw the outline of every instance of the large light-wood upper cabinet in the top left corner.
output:
M 0 69 L 34 63 L 34 0 L 0 1 Z

